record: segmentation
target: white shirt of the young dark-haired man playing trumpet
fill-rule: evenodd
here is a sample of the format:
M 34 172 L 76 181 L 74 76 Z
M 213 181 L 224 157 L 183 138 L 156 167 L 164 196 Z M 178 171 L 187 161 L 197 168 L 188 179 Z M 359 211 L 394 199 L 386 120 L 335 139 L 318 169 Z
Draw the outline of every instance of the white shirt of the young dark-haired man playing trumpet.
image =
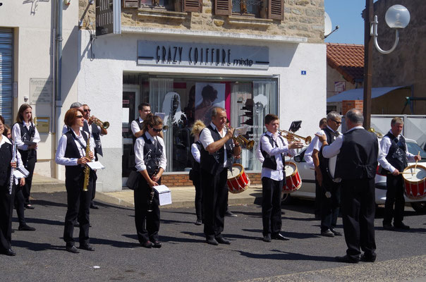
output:
M 265 136 L 266 134 L 269 137 L 272 137 L 272 139 L 274 140 L 274 146 L 271 145 L 271 143 L 269 142 L 269 138 Z M 275 143 L 276 143 L 276 145 L 278 145 L 278 147 L 275 146 Z M 284 162 L 286 160 L 282 159 L 281 154 L 289 153 L 289 154 L 291 154 L 291 156 L 294 156 L 294 155 L 296 155 L 296 150 L 295 149 L 290 149 L 290 150 L 288 149 L 288 142 L 287 142 L 286 138 L 280 137 L 278 135 L 278 133 L 275 133 L 273 135 L 269 131 L 267 131 L 267 133 L 265 133 L 264 135 L 262 135 L 260 137 L 259 144 L 262 145 L 262 150 L 264 152 L 266 152 L 267 154 L 269 154 L 269 156 L 275 157 L 275 161 L 276 161 L 276 169 L 262 167 L 261 178 L 267 177 L 267 178 L 271 178 L 272 180 L 276 180 L 276 181 L 283 180 L 284 179 L 284 172 L 283 172 Z M 260 145 L 258 146 L 257 151 L 260 152 Z M 260 154 L 262 154 L 262 152 Z M 259 157 L 258 152 L 257 152 L 257 156 Z M 263 156 L 262 156 L 262 160 L 261 159 L 259 159 L 259 160 L 261 162 L 263 162 L 264 161 Z

